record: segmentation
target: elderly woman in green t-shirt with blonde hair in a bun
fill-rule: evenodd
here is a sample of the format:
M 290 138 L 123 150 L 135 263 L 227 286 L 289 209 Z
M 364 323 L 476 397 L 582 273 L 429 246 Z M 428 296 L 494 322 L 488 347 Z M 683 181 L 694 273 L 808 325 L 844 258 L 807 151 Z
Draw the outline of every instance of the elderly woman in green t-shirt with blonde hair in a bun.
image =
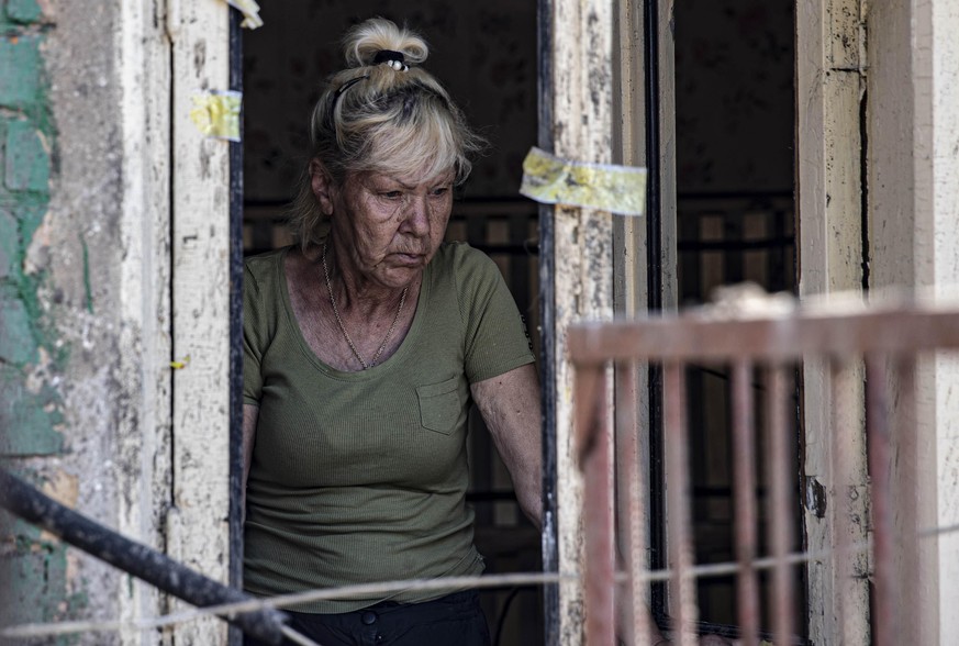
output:
M 480 141 L 420 67 L 420 36 L 373 19 L 344 43 L 347 68 L 313 110 L 300 244 L 246 266 L 244 584 L 258 595 L 480 573 L 470 402 L 524 512 L 542 513 L 523 323 L 495 265 L 443 242 Z M 295 610 L 324 646 L 489 643 L 472 591 Z

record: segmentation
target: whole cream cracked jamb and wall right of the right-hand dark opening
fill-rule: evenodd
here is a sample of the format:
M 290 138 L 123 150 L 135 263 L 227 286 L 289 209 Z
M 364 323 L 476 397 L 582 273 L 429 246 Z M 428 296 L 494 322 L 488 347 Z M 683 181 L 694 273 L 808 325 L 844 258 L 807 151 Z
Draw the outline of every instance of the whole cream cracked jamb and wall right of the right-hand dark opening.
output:
M 959 8 L 950 0 L 798 3 L 801 293 L 905 289 L 955 296 L 957 29 Z M 901 484 L 895 491 L 901 532 L 896 567 L 901 577 L 918 572 L 921 582 L 902 600 L 899 628 L 904 641 L 952 643 L 959 635 L 952 610 L 959 602 L 954 565 L 959 543 L 950 534 L 917 538 L 916 532 L 959 520 L 959 361 L 919 361 L 915 410 L 901 405 L 897 392 L 910 382 L 888 381 L 896 403 L 891 416 L 894 457 L 886 468 Z M 825 366 L 806 364 L 806 478 L 824 482 L 834 493 L 865 489 L 869 481 L 860 449 L 855 479 L 830 479 L 836 474 L 829 468 L 827 441 L 832 434 L 861 428 L 862 411 L 837 415 L 828 382 Z M 862 377 L 840 388 L 860 399 Z M 811 547 L 836 532 L 828 519 L 806 520 Z M 856 537 L 866 537 L 869 527 L 855 524 Z M 814 639 L 845 630 L 844 643 L 869 642 L 869 567 L 857 566 L 859 584 L 810 568 Z

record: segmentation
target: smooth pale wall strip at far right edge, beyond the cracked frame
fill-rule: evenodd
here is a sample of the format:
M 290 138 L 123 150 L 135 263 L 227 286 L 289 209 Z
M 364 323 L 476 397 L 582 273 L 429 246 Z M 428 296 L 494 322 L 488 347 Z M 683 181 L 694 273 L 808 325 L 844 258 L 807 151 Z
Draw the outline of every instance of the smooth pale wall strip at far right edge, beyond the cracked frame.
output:
M 959 287 L 959 7 L 949 0 L 870 2 L 868 238 L 870 285 L 915 287 L 955 299 Z M 906 532 L 959 523 L 959 358 L 919 363 L 910 456 L 918 490 L 902 497 Z M 896 385 L 893 383 L 893 387 Z M 899 472 L 896 460 L 890 468 Z M 912 465 L 910 465 L 912 466 Z M 955 533 L 918 542 L 901 559 L 918 568 L 914 621 L 918 644 L 959 637 Z

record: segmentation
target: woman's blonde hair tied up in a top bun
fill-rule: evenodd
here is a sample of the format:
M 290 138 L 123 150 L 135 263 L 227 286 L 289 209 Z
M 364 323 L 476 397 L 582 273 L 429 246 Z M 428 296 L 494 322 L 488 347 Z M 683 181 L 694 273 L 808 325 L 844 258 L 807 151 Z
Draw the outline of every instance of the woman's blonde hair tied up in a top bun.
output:
M 453 170 L 455 183 L 469 176 L 470 158 L 486 142 L 430 73 L 419 66 L 430 47 L 416 33 L 393 22 L 369 19 L 343 38 L 346 69 L 330 77 L 310 119 L 311 159 L 319 159 L 342 185 L 350 172 Z M 409 69 L 376 63 L 380 52 L 398 52 Z M 399 66 L 398 66 L 399 67 Z M 311 186 L 309 163 L 293 200 L 290 224 L 305 248 L 324 225 Z

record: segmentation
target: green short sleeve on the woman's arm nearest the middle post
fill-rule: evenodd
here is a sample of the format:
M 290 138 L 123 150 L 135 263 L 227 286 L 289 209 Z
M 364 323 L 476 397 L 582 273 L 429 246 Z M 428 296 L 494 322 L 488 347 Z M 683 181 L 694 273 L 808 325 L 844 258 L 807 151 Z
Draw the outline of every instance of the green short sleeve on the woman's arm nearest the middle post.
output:
M 468 245 L 456 254 L 457 299 L 470 383 L 532 364 L 526 326 L 495 263 Z

